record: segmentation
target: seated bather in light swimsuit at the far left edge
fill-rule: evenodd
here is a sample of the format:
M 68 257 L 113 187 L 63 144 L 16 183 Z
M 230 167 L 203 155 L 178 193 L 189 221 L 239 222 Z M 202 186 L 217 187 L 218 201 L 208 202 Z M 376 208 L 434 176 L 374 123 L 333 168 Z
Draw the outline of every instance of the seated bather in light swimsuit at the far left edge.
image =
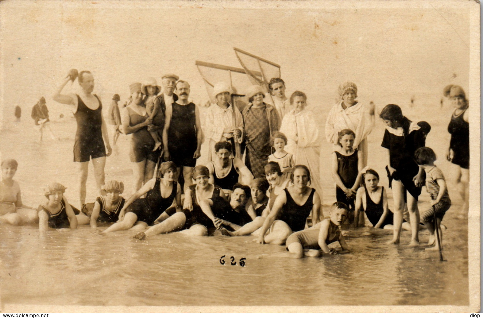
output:
M 20 225 L 22 223 L 37 223 L 37 211 L 22 203 L 20 186 L 14 181 L 18 163 L 15 159 L 1 162 L 0 181 L 0 223 Z

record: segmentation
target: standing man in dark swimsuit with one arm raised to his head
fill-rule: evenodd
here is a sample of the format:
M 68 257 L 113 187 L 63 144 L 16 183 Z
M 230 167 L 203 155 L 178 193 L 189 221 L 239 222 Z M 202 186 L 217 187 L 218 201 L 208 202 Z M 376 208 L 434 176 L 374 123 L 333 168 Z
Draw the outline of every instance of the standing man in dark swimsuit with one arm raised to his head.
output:
M 80 95 L 62 95 L 62 89 L 70 80 L 73 82 L 79 75 L 79 85 L 82 88 Z M 52 97 L 54 101 L 61 104 L 72 105 L 75 120 L 77 121 L 77 132 L 74 141 L 74 161 L 80 162 L 80 194 L 81 207 L 85 204 L 85 183 L 87 182 L 88 164 L 92 159 L 94 165 L 94 176 L 98 195 L 102 194 L 101 187 L 104 185 L 104 166 L 106 157 L 111 155 L 112 148 L 109 144 L 107 126 L 102 116 L 102 103 L 97 95 L 92 94 L 94 90 L 94 77 L 89 71 L 77 73 L 72 69 L 64 82 L 57 89 Z M 106 153 L 107 149 L 107 153 Z

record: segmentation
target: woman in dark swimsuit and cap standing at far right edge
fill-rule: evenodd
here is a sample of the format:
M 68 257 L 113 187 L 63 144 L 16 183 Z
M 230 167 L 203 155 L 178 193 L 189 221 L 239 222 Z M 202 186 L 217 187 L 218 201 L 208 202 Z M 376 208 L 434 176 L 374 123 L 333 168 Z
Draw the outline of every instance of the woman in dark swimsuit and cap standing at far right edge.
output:
M 448 125 L 451 141 L 446 158 L 457 166 L 453 179 L 463 199 L 463 210 L 467 210 L 469 196 L 468 100 L 466 99 L 463 88 L 456 85 L 448 85 L 445 87 L 444 96 L 448 97 L 455 107 L 450 124 Z

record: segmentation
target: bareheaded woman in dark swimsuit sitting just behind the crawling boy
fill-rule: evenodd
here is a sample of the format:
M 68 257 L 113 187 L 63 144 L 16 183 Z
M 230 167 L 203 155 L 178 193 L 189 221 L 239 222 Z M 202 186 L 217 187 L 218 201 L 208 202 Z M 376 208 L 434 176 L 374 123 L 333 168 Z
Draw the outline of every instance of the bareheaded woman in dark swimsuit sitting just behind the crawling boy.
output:
M 315 189 L 308 186 L 309 169 L 304 165 L 296 165 L 290 180 L 293 186 L 284 189 L 275 200 L 258 233 L 257 243 L 284 244 L 292 231 L 301 231 L 305 228 L 311 212 L 313 220 L 319 219 L 321 202 Z M 314 221 L 314 225 L 315 223 Z M 270 233 L 265 236 L 269 229 Z

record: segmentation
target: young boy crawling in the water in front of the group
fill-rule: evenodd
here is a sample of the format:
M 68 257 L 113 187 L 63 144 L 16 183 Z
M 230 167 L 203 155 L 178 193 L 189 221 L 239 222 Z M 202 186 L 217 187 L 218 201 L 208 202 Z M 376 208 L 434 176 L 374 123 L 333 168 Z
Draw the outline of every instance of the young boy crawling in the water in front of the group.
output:
M 289 251 L 284 257 L 299 259 L 305 256 L 319 257 L 320 250 L 325 254 L 337 254 L 335 248 L 329 248 L 330 243 L 338 241 L 342 247 L 342 253 L 349 252 L 349 246 L 345 243 L 339 226 L 347 218 L 348 207 L 345 203 L 335 202 L 330 207 L 330 218 L 323 219 L 313 227 L 292 233 L 287 238 L 286 246 Z

